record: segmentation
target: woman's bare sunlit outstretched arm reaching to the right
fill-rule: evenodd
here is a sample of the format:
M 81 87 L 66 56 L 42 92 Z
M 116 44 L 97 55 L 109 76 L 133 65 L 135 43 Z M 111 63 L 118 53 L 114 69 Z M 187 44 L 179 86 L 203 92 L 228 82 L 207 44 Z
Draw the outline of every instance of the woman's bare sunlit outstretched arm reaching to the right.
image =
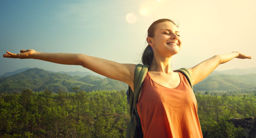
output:
M 230 61 L 233 58 L 240 58 L 240 59 L 251 59 L 252 57 L 246 56 L 245 54 L 242 54 L 240 52 L 232 52 L 229 54 L 221 54 L 221 55 L 215 55 L 198 65 L 190 68 L 191 72 L 191 78 L 193 81 L 193 85 L 200 82 L 201 80 L 205 79 L 213 70 L 220 64 L 226 63 Z

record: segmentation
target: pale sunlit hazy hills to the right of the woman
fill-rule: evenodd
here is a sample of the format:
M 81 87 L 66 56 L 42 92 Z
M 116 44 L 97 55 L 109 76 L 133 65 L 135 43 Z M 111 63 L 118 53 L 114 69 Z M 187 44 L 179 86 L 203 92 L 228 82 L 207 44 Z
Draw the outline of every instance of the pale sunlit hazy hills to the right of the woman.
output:
M 256 89 L 256 74 L 212 75 L 193 86 L 194 91 L 233 91 Z

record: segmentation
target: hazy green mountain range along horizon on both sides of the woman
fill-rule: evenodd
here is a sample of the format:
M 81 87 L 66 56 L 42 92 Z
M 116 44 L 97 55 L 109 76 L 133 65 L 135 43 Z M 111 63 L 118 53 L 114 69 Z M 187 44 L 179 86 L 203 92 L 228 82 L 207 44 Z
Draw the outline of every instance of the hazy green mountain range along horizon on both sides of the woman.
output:
M 56 73 L 38 68 L 19 69 L 0 77 L 0 92 L 19 92 L 26 88 L 33 91 L 46 89 L 53 92 L 72 91 L 73 87 L 80 87 L 83 91 L 127 90 L 128 85 L 121 81 L 98 77 L 89 72 Z M 193 88 L 194 92 L 254 90 L 256 89 L 256 68 L 214 71 Z

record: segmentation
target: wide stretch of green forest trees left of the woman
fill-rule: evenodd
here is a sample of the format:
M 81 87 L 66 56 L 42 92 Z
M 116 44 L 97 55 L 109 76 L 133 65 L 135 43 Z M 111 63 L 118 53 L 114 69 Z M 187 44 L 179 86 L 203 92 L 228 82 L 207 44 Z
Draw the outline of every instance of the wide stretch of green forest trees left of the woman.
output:
M 0 137 L 125 137 L 125 91 L 0 94 Z

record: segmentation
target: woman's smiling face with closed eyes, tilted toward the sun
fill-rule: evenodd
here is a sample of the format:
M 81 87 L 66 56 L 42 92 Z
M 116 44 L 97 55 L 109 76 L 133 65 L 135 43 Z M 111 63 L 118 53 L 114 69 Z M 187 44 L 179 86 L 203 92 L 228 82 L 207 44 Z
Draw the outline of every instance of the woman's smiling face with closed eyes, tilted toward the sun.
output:
M 177 26 L 168 21 L 157 25 L 154 37 L 150 40 L 154 55 L 159 54 L 164 57 L 177 54 L 182 43 Z

